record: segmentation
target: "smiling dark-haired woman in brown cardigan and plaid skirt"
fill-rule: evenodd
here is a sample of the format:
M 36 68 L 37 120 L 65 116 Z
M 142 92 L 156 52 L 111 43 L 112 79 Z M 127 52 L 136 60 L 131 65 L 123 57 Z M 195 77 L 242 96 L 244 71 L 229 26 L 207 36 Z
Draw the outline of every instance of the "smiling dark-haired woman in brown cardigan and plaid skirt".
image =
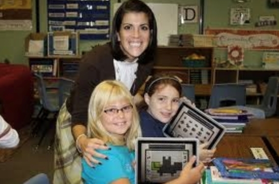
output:
M 75 87 L 60 109 L 56 125 L 54 184 L 82 183 L 81 157 L 77 148 L 91 166 L 92 162 L 98 162 L 91 155 L 106 158 L 95 149 L 108 147 L 85 135 L 88 102 L 95 86 L 106 79 L 117 79 L 135 96 L 151 73 L 157 47 L 157 26 L 151 9 L 140 0 L 125 1 L 114 15 L 111 32 L 109 44 L 97 46 L 84 55 Z

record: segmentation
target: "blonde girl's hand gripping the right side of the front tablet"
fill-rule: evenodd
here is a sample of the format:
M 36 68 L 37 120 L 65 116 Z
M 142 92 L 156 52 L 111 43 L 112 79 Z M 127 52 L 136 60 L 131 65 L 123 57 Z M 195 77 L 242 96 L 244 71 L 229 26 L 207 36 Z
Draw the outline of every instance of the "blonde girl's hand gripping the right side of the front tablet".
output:
M 199 163 L 196 167 L 193 168 L 193 164 L 195 163 L 195 161 L 196 157 L 193 156 L 183 168 L 178 178 L 179 184 L 196 184 L 200 181 L 204 171 L 204 165 L 203 163 Z

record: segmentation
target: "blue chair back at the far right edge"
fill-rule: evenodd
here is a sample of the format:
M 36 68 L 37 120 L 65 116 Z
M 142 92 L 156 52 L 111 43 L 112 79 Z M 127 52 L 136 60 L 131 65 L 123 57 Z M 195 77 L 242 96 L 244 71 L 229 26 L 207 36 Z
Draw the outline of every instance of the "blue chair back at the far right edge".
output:
M 270 117 L 276 112 L 277 96 L 279 88 L 279 78 L 270 77 L 265 90 L 261 106 L 265 111 L 266 117 Z

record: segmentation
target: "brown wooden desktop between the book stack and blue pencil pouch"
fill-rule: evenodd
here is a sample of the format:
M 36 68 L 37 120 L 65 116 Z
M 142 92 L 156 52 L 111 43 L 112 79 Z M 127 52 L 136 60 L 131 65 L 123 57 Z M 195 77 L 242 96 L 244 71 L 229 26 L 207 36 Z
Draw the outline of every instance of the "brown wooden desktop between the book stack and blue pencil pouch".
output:
M 233 136 L 225 135 L 217 145 L 217 151 L 214 157 L 226 158 L 254 158 L 250 150 L 251 147 L 261 147 L 266 155 L 277 165 L 263 139 L 260 136 L 243 135 Z

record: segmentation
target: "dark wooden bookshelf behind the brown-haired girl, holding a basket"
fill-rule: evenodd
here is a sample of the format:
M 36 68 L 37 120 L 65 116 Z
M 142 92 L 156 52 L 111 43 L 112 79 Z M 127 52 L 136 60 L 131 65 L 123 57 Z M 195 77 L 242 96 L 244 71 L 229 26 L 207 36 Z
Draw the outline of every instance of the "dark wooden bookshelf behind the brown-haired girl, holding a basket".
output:
M 194 61 L 189 67 L 185 58 L 192 54 L 203 56 L 201 63 Z M 195 59 L 194 59 L 195 60 Z M 197 65 L 195 66 L 195 62 Z M 158 47 L 153 72 L 171 72 L 183 83 L 195 84 L 195 95 L 209 95 L 213 83 L 213 48 L 211 47 Z

